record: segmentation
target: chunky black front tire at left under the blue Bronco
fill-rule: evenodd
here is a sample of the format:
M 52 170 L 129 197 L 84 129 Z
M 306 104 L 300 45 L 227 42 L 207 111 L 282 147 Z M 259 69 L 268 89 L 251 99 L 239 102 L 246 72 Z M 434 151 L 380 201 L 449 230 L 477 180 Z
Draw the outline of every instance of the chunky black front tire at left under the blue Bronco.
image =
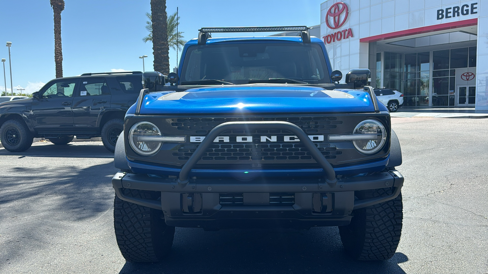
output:
M 157 199 L 156 192 L 122 189 L 127 196 Z M 169 254 L 175 228 L 164 223 L 160 210 L 126 202 L 115 196 L 114 227 L 117 244 L 128 262 L 157 262 Z

